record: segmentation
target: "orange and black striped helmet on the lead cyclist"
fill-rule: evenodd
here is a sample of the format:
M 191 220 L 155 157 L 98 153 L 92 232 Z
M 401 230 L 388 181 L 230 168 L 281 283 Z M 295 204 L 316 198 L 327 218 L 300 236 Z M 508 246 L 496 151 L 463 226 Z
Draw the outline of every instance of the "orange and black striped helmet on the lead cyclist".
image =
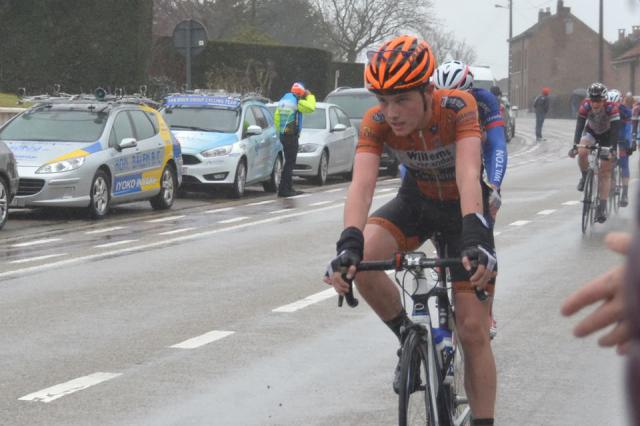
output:
M 404 35 L 371 52 L 364 76 L 370 91 L 393 94 L 425 86 L 435 68 L 431 46 Z

